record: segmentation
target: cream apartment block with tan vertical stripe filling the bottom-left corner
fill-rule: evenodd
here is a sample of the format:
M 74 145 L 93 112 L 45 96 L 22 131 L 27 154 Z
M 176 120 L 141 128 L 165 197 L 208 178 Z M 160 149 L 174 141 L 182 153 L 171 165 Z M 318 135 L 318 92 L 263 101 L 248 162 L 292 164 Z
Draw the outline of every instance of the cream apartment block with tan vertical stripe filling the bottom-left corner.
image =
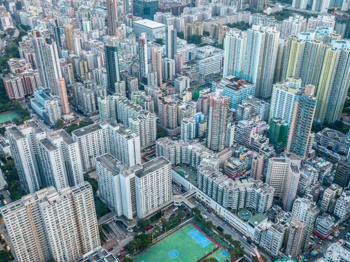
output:
M 18 262 L 73 261 L 100 246 L 88 182 L 44 188 L 0 211 Z

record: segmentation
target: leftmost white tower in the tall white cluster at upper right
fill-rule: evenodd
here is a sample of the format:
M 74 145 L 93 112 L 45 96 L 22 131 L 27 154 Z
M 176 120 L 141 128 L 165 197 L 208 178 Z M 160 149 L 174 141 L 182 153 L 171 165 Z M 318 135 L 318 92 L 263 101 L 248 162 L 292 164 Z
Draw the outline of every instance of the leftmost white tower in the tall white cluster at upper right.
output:
M 242 78 L 246 48 L 247 32 L 231 29 L 226 33 L 222 77 L 232 75 Z

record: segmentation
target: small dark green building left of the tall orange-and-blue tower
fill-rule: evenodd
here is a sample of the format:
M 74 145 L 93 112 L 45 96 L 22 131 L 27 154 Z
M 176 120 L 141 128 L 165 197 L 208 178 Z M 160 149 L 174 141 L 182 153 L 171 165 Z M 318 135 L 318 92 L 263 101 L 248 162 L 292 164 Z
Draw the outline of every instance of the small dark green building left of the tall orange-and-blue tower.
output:
M 269 136 L 270 143 L 273 144 L 277 150 L 284 148 L 287 145 L 288 138 L 288 124 L 286 121 L 271 118 Z

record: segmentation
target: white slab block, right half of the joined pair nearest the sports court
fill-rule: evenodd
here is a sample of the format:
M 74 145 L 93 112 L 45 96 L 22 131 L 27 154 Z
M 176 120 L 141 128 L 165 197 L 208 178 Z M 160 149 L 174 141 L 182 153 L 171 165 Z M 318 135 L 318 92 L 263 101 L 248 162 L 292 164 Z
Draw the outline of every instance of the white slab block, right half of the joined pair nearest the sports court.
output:
M 138 216 L 143 218 L 171 203 L 171 163 L 164 157 L 142 165 L 135 176 Z

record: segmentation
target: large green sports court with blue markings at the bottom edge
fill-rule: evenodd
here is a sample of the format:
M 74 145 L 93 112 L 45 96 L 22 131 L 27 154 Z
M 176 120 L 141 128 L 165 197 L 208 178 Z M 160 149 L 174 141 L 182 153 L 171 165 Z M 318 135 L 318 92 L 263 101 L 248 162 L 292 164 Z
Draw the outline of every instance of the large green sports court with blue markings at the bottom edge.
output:
M 211 247 L 211 245 L 213 245 Z M 188 224 L 165 237 L 134 258 L 135 262 L 192 262 L 199 261 L 213 250 L 213 244 L 202 232 Z M 197 258 L 196 258 L 197 256 Z

